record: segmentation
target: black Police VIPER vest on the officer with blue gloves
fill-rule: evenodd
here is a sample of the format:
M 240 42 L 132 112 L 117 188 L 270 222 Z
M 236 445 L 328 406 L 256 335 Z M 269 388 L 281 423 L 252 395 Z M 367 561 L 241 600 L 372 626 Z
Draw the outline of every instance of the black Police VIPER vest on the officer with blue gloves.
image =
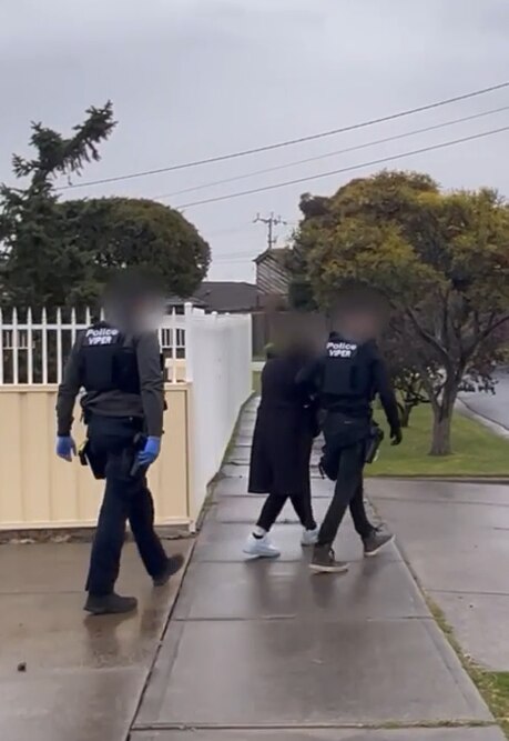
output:
M 80 347 L 80 371 L 86 393 L 141 392 L 134 343 L 106 322 L 85 330 Z

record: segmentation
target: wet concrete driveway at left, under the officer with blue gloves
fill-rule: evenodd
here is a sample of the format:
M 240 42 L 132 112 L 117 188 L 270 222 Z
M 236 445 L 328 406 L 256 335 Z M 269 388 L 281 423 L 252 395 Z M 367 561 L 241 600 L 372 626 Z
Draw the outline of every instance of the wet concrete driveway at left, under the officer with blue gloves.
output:
M 166 541 L 169 552 L 192 541 Z M 120 593 L 129 618 L 86 618 L 90 545 L 0 545 L 0 739 L 125 741 L 180 579 L 154 590 L 132 544 Z

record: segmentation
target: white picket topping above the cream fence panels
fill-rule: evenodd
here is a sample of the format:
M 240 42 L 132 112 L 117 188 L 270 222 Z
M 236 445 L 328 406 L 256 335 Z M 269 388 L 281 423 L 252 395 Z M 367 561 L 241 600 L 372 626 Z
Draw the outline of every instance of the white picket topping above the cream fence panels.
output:
M 184 314 L 173 309 L 162 320 L 159 336 L 170 382 L 186 380 L 176 361 L 185 360 L 186 324 L 202 313 L 186 304 Z M 74 309 L 68 316 L 61 309 L 52 316 L 45 309 L 39 316 L 31 309 L 0 310 L 0 385 L 60 383 L 78 333 L 91 323 L 90 309 L 81 316 Z

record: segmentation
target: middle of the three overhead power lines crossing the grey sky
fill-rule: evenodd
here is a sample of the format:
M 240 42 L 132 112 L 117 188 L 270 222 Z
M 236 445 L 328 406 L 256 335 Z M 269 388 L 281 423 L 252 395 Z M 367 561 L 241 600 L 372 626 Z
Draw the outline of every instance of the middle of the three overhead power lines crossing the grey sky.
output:
M 184 196 L 185 193 L 192 193 L 197 190 L 205 190 L 206 188 L 214 188 L 215 186 L 226 186 L 231 182 L 237 182 L 238 180 L 246 180 L 248 178 L 255 178 L 258 174 L 267 174 L 269 172 L 277 172 L 279 170 L 287 170 L 289 168 L 296 167 L 298 164 L 307 164 L 308 162 L 316 162 L 317 160 L 326 160 L 329 157 L 335 157 L 337 154 L 347 154 L 349 152 L 356 152 L 360 149 L 368 149 L 369 147 L 376 147 L 378 144 L 386 144 L 389 141 L 398 141 L 400 139 L 407 139 L 408 137 L 415 137 L 419 133 L 428 133 L 429 131 L 436 131 L 438 129 L 445 129 L 449 126 L 456 126 L 457 123 L 465 123 L 466 121 L 474 121 L 476 119 L 483 118 L 486 116 L 492 116 L 493 113 L 501 113 L 502 111 L 509 110 L 509 106 L 502 106 L 501 108 L 493 108 L 489 111 L 482 111 L 480 113 L 474 113 L 471 116 L 464 116 L 458 119 L 452 119 L 449 121 L 444 121 L 442 123 L 435 123 L 434 126 L 427 126 L 421 129 L 413 129 L 411 131 L 405 131 L 404 133 L 394 134 L 391 137 L 384 137 L 383 139 L 375 139 L 371 141 L 363 142 L 362 144 L 356 144 L 354 147 L 347 147 L 346 149 L 336 149 L 335 151 L 327 152 L 325 154 L 316 154 L 315 157 L 306 157 L 303 160 L 294 160 L 293 162 L 287 162 L 286 164 L 276 164 L 271 168 L 264 168 L 263 170 L 255 170 L 254 172 L 247 172 L 244 174 L 235 176 L 232 178 L 224 178 L 223 180 L 214 180 L 211 182 L 201 183 L 200 186 L 193 186 L 192 188 L 184 188 L 183 190 L 176 190 L 173 193 L 164 193 L 163 196 L 154 196 L 154 200 L 163 200 L 166 198 L 174 198 L 175 196 Z

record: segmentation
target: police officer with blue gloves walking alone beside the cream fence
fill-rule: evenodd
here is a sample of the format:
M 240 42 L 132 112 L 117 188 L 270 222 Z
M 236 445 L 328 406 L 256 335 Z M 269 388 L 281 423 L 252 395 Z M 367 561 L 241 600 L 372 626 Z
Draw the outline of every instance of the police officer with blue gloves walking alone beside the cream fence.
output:
M 150 326 L 153 300 L 151 282 L 134 276 L 116 279 L 105 297 L 106 320 L 78 338 L 58 393 L 57 454 L 70 461 L 77 452 L 73 409 L 84 389 L 84 457 L 94 475 L 105 479 L 86 581 L 84 609 L 92 614 L 136 608 L 135 598 L 114 591 L 128 520 L 155 587 L 183 563 L 182 555 L 166 555 L 155 533 L 146 484 L 146 470 L 160 452 L 165 405 L 159 339 Z

